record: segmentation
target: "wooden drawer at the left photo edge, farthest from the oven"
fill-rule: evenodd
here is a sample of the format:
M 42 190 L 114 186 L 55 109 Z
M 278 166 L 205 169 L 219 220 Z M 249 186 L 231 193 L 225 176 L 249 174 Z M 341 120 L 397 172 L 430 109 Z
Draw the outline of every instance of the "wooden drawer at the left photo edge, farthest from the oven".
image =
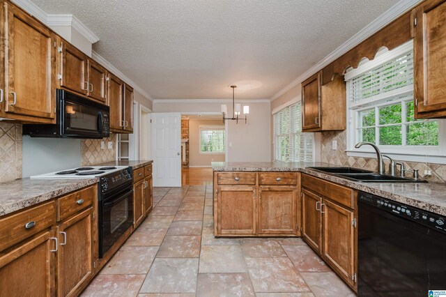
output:
M 0 218 L 0 251 L 56 224 L 56 202 L 50 201 Z

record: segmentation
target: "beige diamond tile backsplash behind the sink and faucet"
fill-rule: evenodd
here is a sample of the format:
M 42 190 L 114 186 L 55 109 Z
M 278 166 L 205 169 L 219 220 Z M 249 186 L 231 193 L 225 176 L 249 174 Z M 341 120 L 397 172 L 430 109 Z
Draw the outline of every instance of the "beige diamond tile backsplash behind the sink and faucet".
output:
M 337 141 L 337 150 L 332 150 L 332 141 Z M 352 157 L 346 154 L 346 131 L 322 132 L 321 135 L 321 162 L 348 167 L 357 167 L 376 170 L 376 158 Z M 388 170 L 388 161 L 385 161 Z M 419 169 L 420 176 L 434 183 L 446 183 L 446 165 L 422 162 L 406 162 L 406 169 Z M 431 170 L 431 176 L 424 176 L 424 170 Z M 410 175 L 408 175 L 410 176 Z

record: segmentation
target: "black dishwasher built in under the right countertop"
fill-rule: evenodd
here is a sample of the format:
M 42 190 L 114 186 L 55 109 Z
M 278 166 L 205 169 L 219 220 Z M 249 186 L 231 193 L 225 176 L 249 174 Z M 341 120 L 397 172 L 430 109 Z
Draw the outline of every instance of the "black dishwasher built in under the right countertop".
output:
M 358 296 L 446 290 L 445 217 L 360 192 Z

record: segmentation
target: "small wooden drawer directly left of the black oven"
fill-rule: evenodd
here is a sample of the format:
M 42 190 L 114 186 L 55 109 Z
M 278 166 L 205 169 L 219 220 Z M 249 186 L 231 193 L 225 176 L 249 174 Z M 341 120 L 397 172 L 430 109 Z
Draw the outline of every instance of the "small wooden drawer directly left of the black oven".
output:
M 68 218 L 93 205 L 93 199 L 96 197 L 95 189 L 95 187 L 89 187 L 57 199 L 57 220 Z

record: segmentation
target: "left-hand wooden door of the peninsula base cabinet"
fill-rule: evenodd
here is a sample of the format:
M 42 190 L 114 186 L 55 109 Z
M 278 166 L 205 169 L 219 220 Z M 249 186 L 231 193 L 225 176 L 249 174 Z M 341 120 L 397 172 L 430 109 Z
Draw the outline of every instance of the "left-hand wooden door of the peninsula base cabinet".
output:
M 217 188 L 217 235 L 256 234 L 256 187 Z

